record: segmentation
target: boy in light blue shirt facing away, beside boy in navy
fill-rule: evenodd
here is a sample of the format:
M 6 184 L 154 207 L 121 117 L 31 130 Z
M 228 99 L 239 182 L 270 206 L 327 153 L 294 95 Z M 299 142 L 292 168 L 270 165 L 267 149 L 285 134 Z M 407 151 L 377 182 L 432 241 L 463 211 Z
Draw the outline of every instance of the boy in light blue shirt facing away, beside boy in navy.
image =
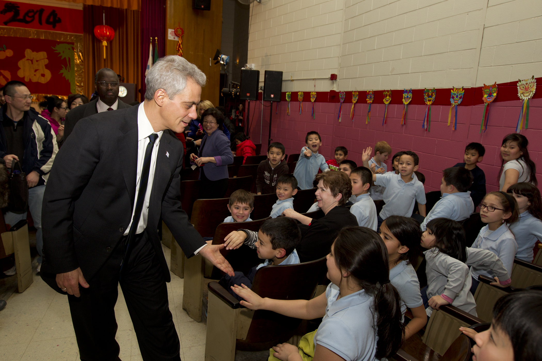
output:
M 435 203 L 421 224 L 422 231 L 427 228 L 427 222 L 434 218 L 448 218 L 462 221 L 474 212 L 474 203 L 467 191 L 472 185 L 473 176 L 463 167 L 451 167 L 442 171 L 442 198 Z

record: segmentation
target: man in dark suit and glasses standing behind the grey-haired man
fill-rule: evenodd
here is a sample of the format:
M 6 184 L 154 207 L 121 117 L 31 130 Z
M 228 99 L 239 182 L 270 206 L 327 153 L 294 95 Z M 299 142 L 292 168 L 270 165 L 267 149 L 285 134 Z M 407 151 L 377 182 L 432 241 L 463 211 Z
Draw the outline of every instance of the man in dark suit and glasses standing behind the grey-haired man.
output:
M 107 110 L 130 108 L 131 106 L 119 99 L 119 77 L 109 68 L 98 70 L 94 77 L 98 97 L 93 101 L 75 107 L 66 114 L 64 122 L 64 141 L 73 132 L 75 124 L 83 118 Z

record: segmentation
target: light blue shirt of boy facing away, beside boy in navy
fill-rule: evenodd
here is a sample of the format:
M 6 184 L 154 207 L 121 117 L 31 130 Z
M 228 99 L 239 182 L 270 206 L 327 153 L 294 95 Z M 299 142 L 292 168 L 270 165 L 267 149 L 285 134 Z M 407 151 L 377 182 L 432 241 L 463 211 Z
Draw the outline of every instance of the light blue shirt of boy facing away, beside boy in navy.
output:
M 421 224 L 422 231 L 427 228 L 427 222 L 434 218 L 449 218 L 454 221 L 462 221 L 469 218 L 474 212 L 474 203 L 470 198 L 470 191 L 458 193 L 444 193 L 441 199 L 435 203 L 431 211 Z

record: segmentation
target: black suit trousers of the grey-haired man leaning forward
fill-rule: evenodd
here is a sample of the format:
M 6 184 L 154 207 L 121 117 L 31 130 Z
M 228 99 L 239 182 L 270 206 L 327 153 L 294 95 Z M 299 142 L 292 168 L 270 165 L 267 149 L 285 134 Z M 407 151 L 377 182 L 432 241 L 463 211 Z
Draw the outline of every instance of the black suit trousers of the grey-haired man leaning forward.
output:
M 118 284 L 137 335 L 144 360 L 180 360 L 179 337 L 167 300 L 167 288 L 158 258 L 144 233 L 136 237 L 130 261 L 122 279 L 122 241 L 111 252 L 104 266 L 87 280 L 89 288 L 79 286 L 81 297 L 68 296 L 81 360 L 119 360 L 115 341 Z

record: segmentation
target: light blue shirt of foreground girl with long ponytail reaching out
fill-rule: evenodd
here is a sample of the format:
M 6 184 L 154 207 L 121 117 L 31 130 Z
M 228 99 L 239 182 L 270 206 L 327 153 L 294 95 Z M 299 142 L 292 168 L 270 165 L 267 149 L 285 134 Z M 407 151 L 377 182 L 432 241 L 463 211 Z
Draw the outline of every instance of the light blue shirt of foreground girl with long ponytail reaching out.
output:
M 326 288 L 326 314 L 314 335 L 314 346 L 321 345 L 346 361 L 376 360 L 375 300 L 364 290 L 339 297 L 339 287 Z

